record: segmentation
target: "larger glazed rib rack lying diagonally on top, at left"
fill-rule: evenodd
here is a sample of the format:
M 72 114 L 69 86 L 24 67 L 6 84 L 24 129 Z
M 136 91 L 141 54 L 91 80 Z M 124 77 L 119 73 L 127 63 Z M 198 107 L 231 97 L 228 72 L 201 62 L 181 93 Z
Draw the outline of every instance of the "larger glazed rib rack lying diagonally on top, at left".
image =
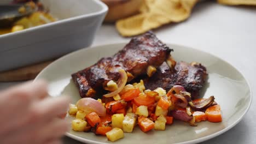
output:
M 124 69 L 128 81 L 147 73 L 148 67 L 158 68 L 173 51 L 152 32 L 132 38 L 124 49 L 112 57 L 101 58 L 96 64 L 72 74 L 80 96 L 101 98 L 110 80 L 117 81 L 118 70 Z

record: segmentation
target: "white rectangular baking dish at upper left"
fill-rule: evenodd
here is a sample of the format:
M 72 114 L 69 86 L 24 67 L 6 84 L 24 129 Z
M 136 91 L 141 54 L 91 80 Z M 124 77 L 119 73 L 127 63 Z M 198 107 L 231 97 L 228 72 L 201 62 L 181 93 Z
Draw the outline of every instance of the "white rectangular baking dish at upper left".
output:
M 100 0 L 41 0 L 56 22 L 0 35 L 0 71 L 90 46 L 107 13 Z

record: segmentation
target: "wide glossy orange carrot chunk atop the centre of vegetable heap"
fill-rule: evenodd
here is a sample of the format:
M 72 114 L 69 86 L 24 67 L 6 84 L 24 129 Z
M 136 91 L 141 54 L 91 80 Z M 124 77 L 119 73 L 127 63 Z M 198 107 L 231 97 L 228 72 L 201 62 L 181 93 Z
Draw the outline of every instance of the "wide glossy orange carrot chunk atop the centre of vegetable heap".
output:
M 155 103 L 155 97 L 150 97 L 147 94 L 140 94 L 138 97 L 134 98 L 132 101 L 137 106 L 141 106 L 141 105 L 149 106 Z

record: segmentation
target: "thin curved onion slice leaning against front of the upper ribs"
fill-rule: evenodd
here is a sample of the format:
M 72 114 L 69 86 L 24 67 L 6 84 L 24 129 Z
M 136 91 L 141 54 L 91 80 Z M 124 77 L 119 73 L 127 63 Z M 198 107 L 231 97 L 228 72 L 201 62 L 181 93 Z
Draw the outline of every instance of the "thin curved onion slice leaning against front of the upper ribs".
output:
M 126 84 L 127 79 L 128 79 L 127 74 L 126 74 L 125 70 L 123 70 L 123 69 L 119 69 L 118 73 L 120 74 L 120 78 L 118 80 L 118 89 L 111 92 L 111 93 L 104 94 L 103 95 L 104 97 L 107 97 L 107 98 L 114 97 L 115 95 L 120 93 L 122 91 L 122 89 L 125 87 L 125 84 Z

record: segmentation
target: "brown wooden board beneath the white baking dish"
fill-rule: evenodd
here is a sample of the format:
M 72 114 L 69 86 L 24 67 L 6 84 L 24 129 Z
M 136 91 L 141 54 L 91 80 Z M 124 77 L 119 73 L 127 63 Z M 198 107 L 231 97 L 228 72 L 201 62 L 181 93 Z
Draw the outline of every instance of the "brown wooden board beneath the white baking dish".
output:
M 0 82 L 33 80 L 41 70 L 53 61 L 29 65 L 19 69 L 0 72 Z

